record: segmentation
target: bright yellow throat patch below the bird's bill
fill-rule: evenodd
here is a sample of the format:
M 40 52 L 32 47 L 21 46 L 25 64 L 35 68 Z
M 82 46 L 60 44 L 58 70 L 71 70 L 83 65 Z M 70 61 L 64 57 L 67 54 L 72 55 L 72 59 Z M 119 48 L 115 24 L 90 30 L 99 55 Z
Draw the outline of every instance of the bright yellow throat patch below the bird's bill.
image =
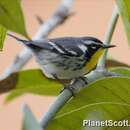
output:
M 88 63 L 86 63 L 86 66 L 85 66 L 85 72 L 88 73 L 90 72 L 92 69 L 95 68 L 100 56 L 103 54 L 104 52 L 104 49 L 99 49 L 90 59 L 90 61 Z

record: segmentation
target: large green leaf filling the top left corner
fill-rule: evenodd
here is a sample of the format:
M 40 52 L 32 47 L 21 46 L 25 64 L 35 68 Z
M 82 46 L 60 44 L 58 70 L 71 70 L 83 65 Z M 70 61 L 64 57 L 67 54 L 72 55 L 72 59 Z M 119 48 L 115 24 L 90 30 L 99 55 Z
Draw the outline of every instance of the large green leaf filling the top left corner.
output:
M 28 38 L 19 0 L 0 0 L 0 24 Z

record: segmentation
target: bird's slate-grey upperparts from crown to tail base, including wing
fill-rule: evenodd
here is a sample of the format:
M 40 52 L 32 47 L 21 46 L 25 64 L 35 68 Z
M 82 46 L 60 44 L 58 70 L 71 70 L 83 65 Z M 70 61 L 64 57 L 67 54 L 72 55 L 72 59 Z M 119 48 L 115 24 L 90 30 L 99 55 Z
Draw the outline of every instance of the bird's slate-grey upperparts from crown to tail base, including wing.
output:
M 68 56 L 81 56 L 86 51 L 88 46 L 96 46 L 98 49 L 98 45 L 102 43 L 100 40 L 93 37 L 63 37 L 63 38 L 55 38 L 43 41 L 27 41 L 26 45 L 35 49 L 45 49 L 52 51 L 54 53 L 60 53 Z M 38 50 L 39 50 L 38 49 Z M 89 48 L 88 48 L 89 49 Z M 92 55 L 92 51 L 95 49 L 88 50 L 88 55 Z M 89 54 L 90 53 L 90 54 Z

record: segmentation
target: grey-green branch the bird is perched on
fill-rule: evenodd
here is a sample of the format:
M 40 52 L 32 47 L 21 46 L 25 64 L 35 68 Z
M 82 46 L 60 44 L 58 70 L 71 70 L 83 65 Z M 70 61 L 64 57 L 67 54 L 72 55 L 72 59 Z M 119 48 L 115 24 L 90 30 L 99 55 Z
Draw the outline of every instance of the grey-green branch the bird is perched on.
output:
M 90 74 L 88 74 L 84 80 L 88 84 L 95 81 L 95 79 L 101 79 L 108 76 L 119 76 L 116 73 L 113 72 L 104 72 L 104 71 L 93 71 Z M 73 82 L 69 87 L 73 88 L 73 94 L 77 94 L 84 86 L 87 84 L 82 79 L 77 79 L 75 82 Z M 42 126 L 43 130 L 47 127 L 48 123 L 55 117 L 57 112 L 68 102 L 72 96 L 72 91 L 69 89 L 65 89 L 54 101 L 54 103 L 49 107 L 48 112 L 43 115 L 43 117 L 40 120 L 40 125 Z

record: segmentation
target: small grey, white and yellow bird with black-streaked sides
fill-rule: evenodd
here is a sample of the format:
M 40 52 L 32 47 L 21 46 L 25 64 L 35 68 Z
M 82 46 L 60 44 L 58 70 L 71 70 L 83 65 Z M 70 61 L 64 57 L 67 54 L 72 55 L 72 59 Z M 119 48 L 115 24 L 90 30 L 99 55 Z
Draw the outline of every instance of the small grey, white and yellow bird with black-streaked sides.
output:
M 95 69 L 103 52 L 115 47 L 90 37 L 60 37 L 23 40 L 9 36 L 31 49 L 46 77 L 59 80 L 80 78 Z

